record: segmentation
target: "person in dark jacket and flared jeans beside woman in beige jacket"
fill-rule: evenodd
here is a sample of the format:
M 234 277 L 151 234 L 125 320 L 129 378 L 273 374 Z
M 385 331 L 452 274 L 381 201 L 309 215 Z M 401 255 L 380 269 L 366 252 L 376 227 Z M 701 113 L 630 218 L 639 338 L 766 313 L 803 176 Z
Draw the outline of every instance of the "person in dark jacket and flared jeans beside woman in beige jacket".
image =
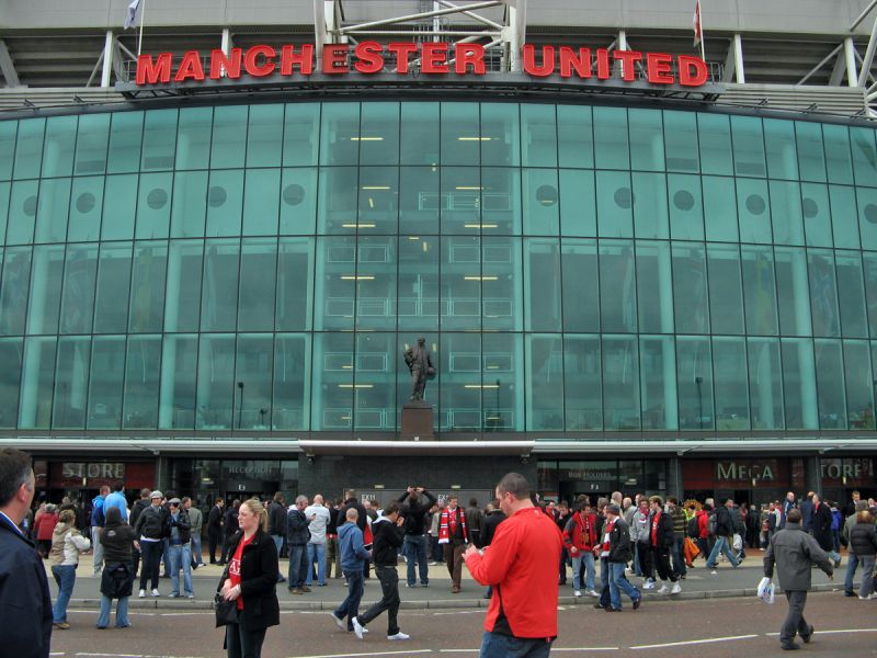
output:
M 112 496 L 112 495 L 111 495 Z M 122 519 L 118 508 L 106 510 L 106 523 L 101 533 L 104 568 L 101 576 L 101 614 L 98 628 L 110 625 L 110 609 L 116 600 L 116 628 L 127 628 L 128 598 L 134 588 L 134 541 L 137 534 Z

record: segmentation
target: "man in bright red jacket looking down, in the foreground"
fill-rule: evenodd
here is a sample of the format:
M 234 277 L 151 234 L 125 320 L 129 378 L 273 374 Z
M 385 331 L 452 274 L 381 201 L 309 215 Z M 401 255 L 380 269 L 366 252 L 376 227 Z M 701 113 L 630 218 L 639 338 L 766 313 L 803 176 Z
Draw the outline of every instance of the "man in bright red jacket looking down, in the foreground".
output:
M 476 581 L 493 586 L 480 656 L 543 658 L 557 637 L 560 530 L 534 507 L 523 475 L 505 475 L 497 498 L 508 518 L 490 546 L 481 552 L 470 545 L 463 556 Z

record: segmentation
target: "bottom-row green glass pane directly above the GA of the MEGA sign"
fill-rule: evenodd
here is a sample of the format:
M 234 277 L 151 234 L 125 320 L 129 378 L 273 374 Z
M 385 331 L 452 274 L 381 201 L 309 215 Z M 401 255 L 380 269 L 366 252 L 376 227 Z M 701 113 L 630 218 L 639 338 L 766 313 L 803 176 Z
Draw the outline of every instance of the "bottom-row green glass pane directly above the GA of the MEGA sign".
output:
M 748 338 L 747 358 L 752 429 L 782 430 L 785 405 L 779 341 L 775 338 Z

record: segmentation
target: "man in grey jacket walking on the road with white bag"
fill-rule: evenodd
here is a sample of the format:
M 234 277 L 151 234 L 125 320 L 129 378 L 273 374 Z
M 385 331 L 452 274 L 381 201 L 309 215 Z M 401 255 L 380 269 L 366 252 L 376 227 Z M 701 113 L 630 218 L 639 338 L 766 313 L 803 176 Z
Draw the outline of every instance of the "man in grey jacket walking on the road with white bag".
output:
M 788 600 L 788 614 L 779 627 L 779 647 L 785 650 L 800 648 L 795 644 L 796 634 L 801 636 L 805 644 L 813 635 L 812 624 L 804 619 L 812 564 L 833 579 L 834 569 L 828 554 L 801 526 L 801 511 L 793 509 L 786 515 L 786 527 L 773 536 L 764 555 L 764 575 L 773 578 L 776 566 L 779 587 Z

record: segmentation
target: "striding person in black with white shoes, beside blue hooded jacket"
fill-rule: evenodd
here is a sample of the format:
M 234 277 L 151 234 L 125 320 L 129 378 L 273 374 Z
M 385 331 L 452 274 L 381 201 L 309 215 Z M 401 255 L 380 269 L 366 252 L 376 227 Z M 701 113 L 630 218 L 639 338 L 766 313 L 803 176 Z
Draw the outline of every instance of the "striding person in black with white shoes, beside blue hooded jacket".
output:
M 398 551 L 405 541 L 402 525 L 405 518 L 399 515 L 399 503 L 390 502 L 384 514 L 372 523 L 374 548 L 372 551 L 375 563 L 375 575 L 380 582 L 381 599 L 374 603 L 363 614 L 351 620 L 353 632 L 360 639 L 363 638 L 365 627 L 377 615 L 387 611 L 387 639 L 409 639 L 409 635 L 399 629 L 399 561 Z

